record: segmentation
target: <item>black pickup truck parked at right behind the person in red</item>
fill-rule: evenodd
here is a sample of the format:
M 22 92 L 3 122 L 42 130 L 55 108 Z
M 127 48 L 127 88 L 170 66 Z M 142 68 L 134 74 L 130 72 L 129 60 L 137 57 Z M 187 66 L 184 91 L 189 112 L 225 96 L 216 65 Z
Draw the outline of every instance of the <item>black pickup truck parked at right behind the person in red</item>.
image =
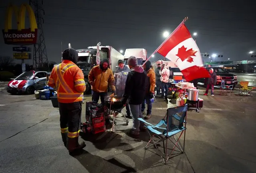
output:
M 221 81 L 224 80 L 225 81 L 225 85 L 228 86 L 232 86 L 233 88 L 235 88 L 235 86 L 237 85 L 238 81 L 237 81 L 237 76 L 232 74 L 232 73 L 228 73 L 227 71 L 224 71 L 224 69 L 220 68 L 220 67 L 206 67 L 206 69 L 209 71 L 210 69 L 214 69 L 214 72 L 217 75 L 217 83 L 216 86 L 221 86 Z M 200 83 L 204 83 L 205 84 L 205 79 L 199 79 L 198 82 Z

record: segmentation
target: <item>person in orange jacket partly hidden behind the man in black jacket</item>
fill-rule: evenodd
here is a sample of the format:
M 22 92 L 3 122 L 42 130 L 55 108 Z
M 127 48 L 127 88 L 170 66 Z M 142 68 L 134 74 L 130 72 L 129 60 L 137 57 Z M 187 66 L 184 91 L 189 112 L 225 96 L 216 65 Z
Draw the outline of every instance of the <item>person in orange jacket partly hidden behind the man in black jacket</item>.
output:
M 142 61 L 141 65 L 145 63 L 145 61 Z M 147 103 L 147 115 L 144 117 L 145 120 L 148 120 L 151 118 L 151 110 L 152 110 L 152 103 L 151 98 L 155 95 L 155 71 L 153 70 L 153 67 L 151 66 L 151 62 L 147 61 L 146 64 L 143 66 L 143 69 L 147 73 L 147 83 L 145 88 L 145 100 Z M 144 114 L 145 110 L 145 102 L 142 102 L 141 104 L 141 112 Z

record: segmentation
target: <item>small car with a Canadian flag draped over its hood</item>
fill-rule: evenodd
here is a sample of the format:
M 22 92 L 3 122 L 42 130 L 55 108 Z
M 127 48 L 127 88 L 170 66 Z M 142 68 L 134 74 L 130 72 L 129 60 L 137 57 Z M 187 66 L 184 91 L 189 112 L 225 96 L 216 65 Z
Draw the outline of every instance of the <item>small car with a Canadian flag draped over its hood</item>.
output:
M 8 83 L 6 88 L 10 94 L 34 94 L 35 90 L 43 89 L 46 84 L 47 71 L 27 71 Z

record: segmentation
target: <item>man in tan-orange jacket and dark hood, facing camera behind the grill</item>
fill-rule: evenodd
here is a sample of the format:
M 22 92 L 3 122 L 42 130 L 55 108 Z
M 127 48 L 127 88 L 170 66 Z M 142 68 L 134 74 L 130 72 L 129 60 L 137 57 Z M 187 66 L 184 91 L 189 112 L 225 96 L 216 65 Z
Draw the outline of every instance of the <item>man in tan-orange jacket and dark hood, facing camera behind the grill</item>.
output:
M 101 104 L 104 105 L 108 85 L 111 86 L 112 94 L 115 95 L 115 79 L 112 70 L 109 68 L 108 59 L 103 59 L 100 65 L 96 65 L 91 69 L 88 80 L 91 84 L 93 102 L 98 103 L 101 97 Z

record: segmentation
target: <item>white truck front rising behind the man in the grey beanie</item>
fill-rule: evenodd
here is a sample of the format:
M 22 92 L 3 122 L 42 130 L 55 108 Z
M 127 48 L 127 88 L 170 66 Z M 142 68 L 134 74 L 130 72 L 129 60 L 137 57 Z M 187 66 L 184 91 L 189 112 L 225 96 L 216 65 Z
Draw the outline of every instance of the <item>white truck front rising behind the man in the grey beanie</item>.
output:
M 141 65 L 142 61 L 147 59 L 147 50 L 146 49 L 126 49 L 124 56 L 124 63 L 128 67 L 127 60 L 130 56 L 134 56 L 138 60 L 138 65 Z

